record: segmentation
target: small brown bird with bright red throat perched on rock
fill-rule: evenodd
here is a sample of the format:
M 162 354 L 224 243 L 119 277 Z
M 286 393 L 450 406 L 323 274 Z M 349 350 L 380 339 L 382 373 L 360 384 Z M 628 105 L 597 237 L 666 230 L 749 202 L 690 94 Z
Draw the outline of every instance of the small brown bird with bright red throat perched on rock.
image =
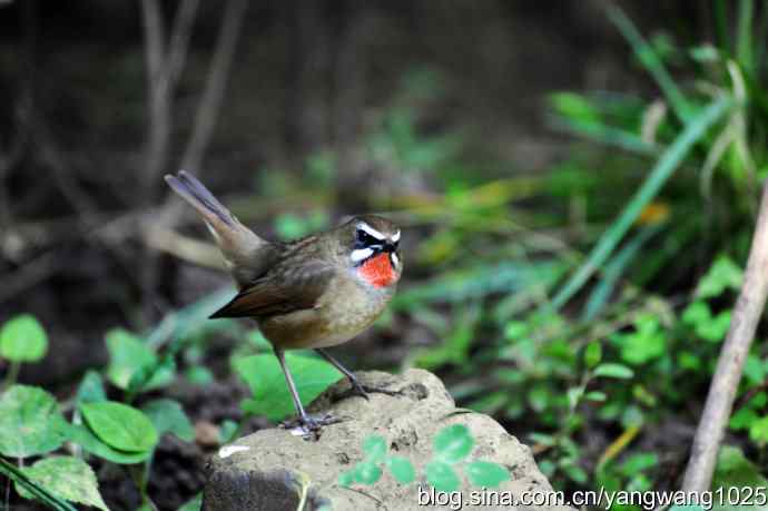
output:
M 312 348 L 367 399 L 387 392 L 362 385 L 323 350 L 349 341 L 384 312 L 403 272 L 400 229 L 363 215 L 335 229 L 291 243 L 268 242 L 245 227 L 190 174 L 166 181 L 203 217 L 239 293 L 210 317 L 252 317 L 272 343 L 298 412 L 298 423 L 317 430 L 332 417 L 307 415 L 285 364 L 285 350 Z

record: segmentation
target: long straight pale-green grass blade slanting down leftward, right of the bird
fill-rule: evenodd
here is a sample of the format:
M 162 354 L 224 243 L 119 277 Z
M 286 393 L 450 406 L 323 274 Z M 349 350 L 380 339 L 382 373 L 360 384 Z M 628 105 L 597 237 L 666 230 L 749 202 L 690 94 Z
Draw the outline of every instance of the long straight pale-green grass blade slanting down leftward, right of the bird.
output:
M 587 261 L 557 294 L 552 301 L 552 306 L 555 309 L 562 307 L 578 293 L 595 269 L 605 263 L 616 246 L 624 237 L 638 216 L 640 216 L 642 209 L 656 197 L 663 184 L 667 183 L 667 179 L 686 159 L 688 151 L 715 122 L 720 120 L 730 110 L 732 100 L 730 98 L 720 98 L 687 124 L 686 129 L 678 135 L 675 143 L 661 155 L 642 186 L 640 186 L 640 189 L 634 194 L 632 200 L 621 212 L 619 218 L 600 237 Z

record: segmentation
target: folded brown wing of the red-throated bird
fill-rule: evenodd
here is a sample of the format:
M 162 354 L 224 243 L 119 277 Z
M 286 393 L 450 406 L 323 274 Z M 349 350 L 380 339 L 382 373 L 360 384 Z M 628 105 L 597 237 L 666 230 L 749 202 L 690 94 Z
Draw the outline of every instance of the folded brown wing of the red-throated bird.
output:
M 210 317 L 263 317 L 315 308 L 337 271 L 322 261 L 303 262 L 298 267 L 278 266 L 245 286 Z

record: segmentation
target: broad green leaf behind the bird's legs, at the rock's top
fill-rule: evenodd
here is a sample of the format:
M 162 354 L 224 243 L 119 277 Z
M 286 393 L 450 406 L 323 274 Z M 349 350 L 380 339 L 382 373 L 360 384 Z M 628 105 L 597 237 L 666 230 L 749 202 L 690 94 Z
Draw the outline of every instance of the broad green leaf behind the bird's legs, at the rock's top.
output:
M 285 358 L 303 404 L 312 402 L 342 377 L 324 360 L 292 352 L 286 353 Z M 275 355 L 265 353 L 237 357 L 233 361 L 233 366 L 254 395 L 253 400 L 247 400 L 243 405 L 246 412 L 266 415 L 273 421 L 294 413 L 291 392 Z

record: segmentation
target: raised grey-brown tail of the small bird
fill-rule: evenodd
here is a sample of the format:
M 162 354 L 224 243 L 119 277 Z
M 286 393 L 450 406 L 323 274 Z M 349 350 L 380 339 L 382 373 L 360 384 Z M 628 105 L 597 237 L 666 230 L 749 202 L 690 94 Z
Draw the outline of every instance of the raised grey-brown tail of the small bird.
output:
M 166 183 L 203 217 L 230 267 L 246 263 L 267 244 L 240 224 L 191 174 L 180 170 L 176 176 L 167 175 Z

